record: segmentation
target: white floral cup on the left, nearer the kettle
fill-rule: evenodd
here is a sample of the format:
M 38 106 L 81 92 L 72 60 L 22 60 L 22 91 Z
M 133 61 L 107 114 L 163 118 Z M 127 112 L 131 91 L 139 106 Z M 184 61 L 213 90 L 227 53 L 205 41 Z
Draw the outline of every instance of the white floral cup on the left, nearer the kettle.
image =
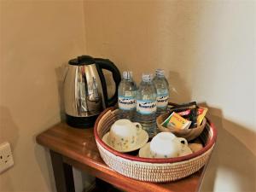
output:
M 118 151 L 133 148 L 137 144 L 142 125 L 129 119 L 119 119 L 113 123 L 109 131 L 108 143 Z

